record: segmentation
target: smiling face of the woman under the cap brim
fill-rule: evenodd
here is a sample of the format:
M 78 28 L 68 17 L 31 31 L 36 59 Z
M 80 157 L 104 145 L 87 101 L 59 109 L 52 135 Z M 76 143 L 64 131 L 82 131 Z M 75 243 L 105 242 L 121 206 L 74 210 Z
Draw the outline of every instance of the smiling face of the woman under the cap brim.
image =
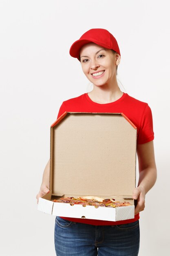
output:
M 119 54 L 95 43 L 84 45 L 79 52 L 82 70 L 94 85 L 111 85 L 116 77 Z

